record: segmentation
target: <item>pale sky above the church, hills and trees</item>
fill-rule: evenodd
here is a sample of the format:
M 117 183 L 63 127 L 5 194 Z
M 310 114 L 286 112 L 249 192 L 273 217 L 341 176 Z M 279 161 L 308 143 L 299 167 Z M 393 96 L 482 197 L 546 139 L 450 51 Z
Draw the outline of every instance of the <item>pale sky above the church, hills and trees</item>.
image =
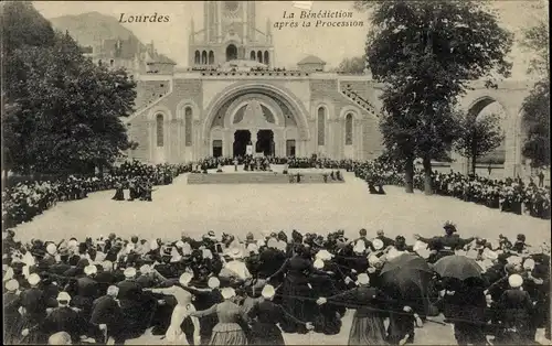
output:
M 535 4 L 543 0 L 499 0 L 491 6 L 497 10 L 500 24 L 512 31 L 517 37 L 523 28 L 529 28 L 537 18 L 546 15 L 548 8 Z M 195 30 L 203 28 L 202 1 L 33 1 L 34 7 L 46 18 L 67 14 L 81 14 L 97 11 L 117 19 L 125 15 L 170 15 L 167 23 L 124 23 L 144 43 L 155 42 L 159 53 L 174 60 L 178 65 L 188 64 L 188 37 L 193 17 Z M 548 2 L 545 4 L 548 7 Z M 353 9 L 352 1 L 314 1 L 312 11 L 343 10 L 352 11 L 354 21 L 363 21 L 362 28 L 273 28 L 273 43 L 276 53 L 276 65 L 295 66 L 305 56 L 312 54 L 327 62 L 327 67 L 333 67 L 344 57 L 363 54 L 367 33 L 370 29 L 368 14 Z M 293 7 L 293 1 L 257 1 L 256 25 L 266 31 L 266 20 L 272 23 L 286 21 L 284 11 L 300 12 Z M 514 45 L 511 61 L 513 79 L 527 77 L 527 66 L 530 53 Z

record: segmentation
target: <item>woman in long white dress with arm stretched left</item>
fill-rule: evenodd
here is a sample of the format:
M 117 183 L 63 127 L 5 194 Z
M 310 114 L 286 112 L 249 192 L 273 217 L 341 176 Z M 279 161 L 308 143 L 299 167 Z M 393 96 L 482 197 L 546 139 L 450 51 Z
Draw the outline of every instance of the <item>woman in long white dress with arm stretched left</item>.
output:
M 185 272 L 180 277 L 179 281 L 180 284 L 185 286 L 190 283 L 191 280 L 192 274 Z M 180 326 L 182 325 L 182 322 L 184 322 L 184 320 L 190 316 L 190 313 L 195 311 L 195 307 L 192 304 L 193 295 L 179 285 L 172 285 L 167 289 L 151 289 L 151 292 L 167 295 L 170 294 L 177 299 L 177 306 L 174 306 L 174 310 L 172 311 L 171 323 L 164 336 L 167 342 L 171 344 L 189 345 L 185 335 Z M 191 316 L 191 320 L 193 323 L 193 343 L 194 345 L 200 345 L 200 322 L 198 317 L 194 316 Z

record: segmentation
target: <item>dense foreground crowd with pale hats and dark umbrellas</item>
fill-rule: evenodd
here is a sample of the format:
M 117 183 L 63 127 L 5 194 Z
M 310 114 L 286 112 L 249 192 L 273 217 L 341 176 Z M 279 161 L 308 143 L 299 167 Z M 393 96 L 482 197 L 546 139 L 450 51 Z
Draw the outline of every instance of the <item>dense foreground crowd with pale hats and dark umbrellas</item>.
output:
M 28 244 L 8 230 L 4 342 L 124 344 L 151 328 L 171 344 L 284 345 L 283 332 L 340 333 L 347 310 L 349 345 L 413 343 L 432 323 L 460 345 L 550 339 L 550 246 L 443 228 L 412 246 L 367 229 Z

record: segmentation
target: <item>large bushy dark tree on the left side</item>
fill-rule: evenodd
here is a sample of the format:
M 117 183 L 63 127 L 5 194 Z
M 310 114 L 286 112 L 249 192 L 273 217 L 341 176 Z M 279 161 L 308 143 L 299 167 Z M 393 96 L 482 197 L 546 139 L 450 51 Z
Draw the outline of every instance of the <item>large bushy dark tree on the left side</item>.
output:
M 89 172 L 128 148 L 119 117 L 132 111 L 136 83 L 125 71 L 94 65 L 67 33 L 7 51 L 6 98 L 17 107 L 4 112 L 2 128 L 14 171 Z

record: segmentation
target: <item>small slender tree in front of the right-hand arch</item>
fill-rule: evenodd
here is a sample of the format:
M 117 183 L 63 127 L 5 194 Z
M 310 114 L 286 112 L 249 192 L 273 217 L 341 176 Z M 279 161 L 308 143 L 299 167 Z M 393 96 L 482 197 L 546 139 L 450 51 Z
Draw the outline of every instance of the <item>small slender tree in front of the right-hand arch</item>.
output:
M 461 118 L 460 129 L 455 149 L 471 160 L 471 174 L 476 174 L 477 159 L 500 147 L 505 140 L 500 118 L 496 115 L 478 118 L 466 116 Z

